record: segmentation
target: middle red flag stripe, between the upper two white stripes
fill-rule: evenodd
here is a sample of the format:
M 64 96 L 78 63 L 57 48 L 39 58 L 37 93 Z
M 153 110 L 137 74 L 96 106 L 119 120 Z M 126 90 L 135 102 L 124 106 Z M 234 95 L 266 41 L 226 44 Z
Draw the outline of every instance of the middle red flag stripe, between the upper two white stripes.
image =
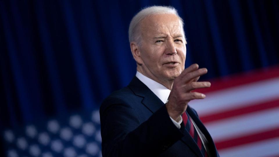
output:
M 226 118 L 235 117 L 235 116 L 244 115 L 244 114 L 253 113 L 253 112 L 258 112 L 258 111 L 262 111 L 262 110 L 266 110 L 266 109 L 276 108 L 278 106 L 279 106 L 279 99 L 276 99 L 273 101 L 264 102 L 264 103 L 260 103 L 260 104 L 256 104 L 256 105 L 252 105 L 252 106 L 246 106 L 243 108 L 236 108 L 236 109 L 227 110 L 227 111 L 220 112 L 220 113 L 203 115 L 200 117 L 200 119 L 203 122 L 203 124 L 206 124 L 208 122 L 212 122 L 212 121 L 216 121 L 216 120 L 220 120 L 220 119 L 226 119 Z

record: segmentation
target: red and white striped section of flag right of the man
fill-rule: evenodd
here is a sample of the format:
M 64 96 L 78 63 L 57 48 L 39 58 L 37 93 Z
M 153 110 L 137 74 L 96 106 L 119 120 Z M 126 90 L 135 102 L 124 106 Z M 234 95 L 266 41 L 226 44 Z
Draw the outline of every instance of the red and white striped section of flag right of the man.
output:
M 222 157 L 279 156 L 279 66 L 211 80 L 189 103 Z

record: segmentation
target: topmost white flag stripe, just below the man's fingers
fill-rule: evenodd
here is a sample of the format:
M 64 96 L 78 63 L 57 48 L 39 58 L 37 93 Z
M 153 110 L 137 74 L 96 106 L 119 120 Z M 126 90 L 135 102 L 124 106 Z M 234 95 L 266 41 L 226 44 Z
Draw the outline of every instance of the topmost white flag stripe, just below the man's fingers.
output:
M 206 94 L 205 99 L 192 100 L 189 105 L 199 116 L 251 106 L 267 100 L 278 99 L 279 78 L 245 84 Z

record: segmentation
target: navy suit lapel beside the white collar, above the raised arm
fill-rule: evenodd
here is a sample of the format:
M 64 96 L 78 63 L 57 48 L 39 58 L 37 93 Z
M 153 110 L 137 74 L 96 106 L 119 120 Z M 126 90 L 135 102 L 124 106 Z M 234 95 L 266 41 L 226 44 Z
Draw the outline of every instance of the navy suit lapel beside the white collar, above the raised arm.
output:
M 142 97 L 142 104 L 152 113 L 156 112 L 164 103 L 136 76 L 130 82 L 128 87 L 137 95 Z

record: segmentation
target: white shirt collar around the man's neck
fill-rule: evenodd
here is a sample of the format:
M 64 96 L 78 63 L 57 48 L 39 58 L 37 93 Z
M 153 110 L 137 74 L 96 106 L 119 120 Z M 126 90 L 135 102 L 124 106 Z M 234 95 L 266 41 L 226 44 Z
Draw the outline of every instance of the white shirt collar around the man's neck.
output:
M 144 83 L 161 101 L 163 101 L 164 104 L 167 103 L 171 90 L 169 90 L 164 85 L 144 76 L 138 71 L 136 73 L 136 77 L 142 81 L 142 83 Z

